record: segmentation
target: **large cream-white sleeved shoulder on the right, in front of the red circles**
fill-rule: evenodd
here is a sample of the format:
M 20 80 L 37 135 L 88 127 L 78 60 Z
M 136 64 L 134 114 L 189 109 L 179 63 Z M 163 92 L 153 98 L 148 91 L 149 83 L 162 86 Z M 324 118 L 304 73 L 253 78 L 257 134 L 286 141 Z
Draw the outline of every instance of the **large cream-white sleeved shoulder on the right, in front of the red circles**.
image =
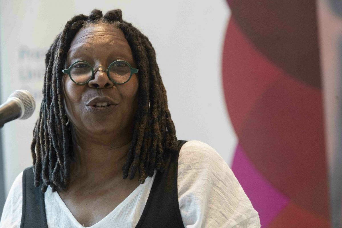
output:
M 258 213 L 234 173 L 206 143 L 193 140 L 183 145 L 177 180 L 185 227 L 260 227 Z

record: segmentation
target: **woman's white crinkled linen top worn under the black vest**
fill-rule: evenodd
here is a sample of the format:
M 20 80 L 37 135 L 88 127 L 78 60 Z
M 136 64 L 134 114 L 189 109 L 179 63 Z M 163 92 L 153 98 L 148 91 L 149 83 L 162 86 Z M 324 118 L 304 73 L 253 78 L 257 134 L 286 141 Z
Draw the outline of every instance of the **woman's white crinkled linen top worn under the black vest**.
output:
M 153 177 L 137 187 L 113 211 L 91 228 L 129 228 L 138 223 Z M 19 228 L 22 215 L 22 177 L 15 179 L 6 199 L 0 228 Z M 183 145 L 178 161 L 178 202 L 186 228 L 233 227 L 259 228 L 258 213 L 246 196 L 232 170 L 222 157 L 209 145 L 189 141 Z M 44 193 L 45 212 L 49 228 L 84 228 L 69 211 L 57 192 L 49 186 Z

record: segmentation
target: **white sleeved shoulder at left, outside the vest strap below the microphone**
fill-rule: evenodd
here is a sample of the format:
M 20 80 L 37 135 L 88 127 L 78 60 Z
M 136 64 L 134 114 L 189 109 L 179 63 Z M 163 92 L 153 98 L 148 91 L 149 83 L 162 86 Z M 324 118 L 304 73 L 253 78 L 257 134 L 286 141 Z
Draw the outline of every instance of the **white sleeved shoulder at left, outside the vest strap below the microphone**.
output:
M 23 207 L 23 172 L 15 178 L 3 207 L 0 228 L 20 227 Z

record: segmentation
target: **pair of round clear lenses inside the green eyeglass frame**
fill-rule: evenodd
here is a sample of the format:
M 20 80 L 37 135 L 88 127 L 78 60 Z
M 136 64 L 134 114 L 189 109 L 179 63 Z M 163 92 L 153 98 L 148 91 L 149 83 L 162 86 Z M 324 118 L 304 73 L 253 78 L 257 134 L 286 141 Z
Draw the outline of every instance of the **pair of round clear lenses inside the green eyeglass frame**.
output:
M 131 68 L 124 61 L 116 61 L 108 69 L 110 79 L 116 83 L 124 83 L 131 76 Z M 92 67 L 80 62 L 70 69 L 70 76 L 76 83 L 85 83 L 92 77 Z

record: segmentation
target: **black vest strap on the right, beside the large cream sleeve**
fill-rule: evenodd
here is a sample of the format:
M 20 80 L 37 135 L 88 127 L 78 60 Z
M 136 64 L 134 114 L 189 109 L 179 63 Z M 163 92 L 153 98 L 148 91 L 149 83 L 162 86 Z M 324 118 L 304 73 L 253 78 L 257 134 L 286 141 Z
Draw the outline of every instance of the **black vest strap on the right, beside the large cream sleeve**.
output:
M 169 156 L 162 173 L 157 172 L 136 228 L 184 228 L 178 203 L 177 171 L 179 151 L 186 142 L 177 141 L 178 153 Z

